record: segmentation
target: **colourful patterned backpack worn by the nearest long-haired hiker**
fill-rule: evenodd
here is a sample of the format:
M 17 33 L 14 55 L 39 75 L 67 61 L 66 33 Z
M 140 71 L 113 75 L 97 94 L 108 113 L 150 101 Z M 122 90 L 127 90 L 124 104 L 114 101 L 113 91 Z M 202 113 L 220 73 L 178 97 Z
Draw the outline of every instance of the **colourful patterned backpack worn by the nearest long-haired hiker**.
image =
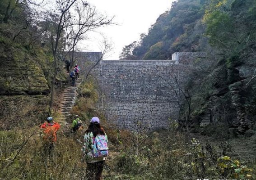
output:
M 97 135 L 94 138 L 94 144 L 93 144 L 93 149 L 91 150 L 91 156 L 94 158 L 108 156 L 107 136 L 106 135 Z

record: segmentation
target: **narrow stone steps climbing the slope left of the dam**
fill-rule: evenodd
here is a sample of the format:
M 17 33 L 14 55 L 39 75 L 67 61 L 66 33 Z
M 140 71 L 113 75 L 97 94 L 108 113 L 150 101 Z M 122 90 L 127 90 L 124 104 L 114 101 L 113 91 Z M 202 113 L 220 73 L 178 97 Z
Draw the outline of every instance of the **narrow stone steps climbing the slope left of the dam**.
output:
M 70 115 L 70 111 L 74 106 L 75 99 L 77 98 L 78 87 L 81 84 L 82 80 L 78 79 L 75 81 L 74 86 L 66 88 L 61 95 L 61 108 L 62 117 L 65 118 Z

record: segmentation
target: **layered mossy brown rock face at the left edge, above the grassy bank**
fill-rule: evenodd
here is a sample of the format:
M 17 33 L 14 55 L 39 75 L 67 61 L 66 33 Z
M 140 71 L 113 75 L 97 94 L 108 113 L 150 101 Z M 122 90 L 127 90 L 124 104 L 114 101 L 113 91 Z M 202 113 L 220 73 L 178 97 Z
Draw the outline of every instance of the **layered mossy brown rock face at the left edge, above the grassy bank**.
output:
M 0 44 L 0 94 L 48 94 L 48 82 L 40 64 L 47 59 L 39 59 L 22 47 Z

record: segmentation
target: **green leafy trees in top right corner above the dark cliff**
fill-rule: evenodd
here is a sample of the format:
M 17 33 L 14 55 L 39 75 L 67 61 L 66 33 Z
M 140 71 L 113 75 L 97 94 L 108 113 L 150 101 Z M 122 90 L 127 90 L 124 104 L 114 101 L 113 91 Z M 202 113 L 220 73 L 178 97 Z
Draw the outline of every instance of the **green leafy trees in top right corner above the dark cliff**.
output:
M 256 34 L 255 3 L 255 0 L 212 1 L 204 16 L 209 43 L 226 56 L 251 51 Z

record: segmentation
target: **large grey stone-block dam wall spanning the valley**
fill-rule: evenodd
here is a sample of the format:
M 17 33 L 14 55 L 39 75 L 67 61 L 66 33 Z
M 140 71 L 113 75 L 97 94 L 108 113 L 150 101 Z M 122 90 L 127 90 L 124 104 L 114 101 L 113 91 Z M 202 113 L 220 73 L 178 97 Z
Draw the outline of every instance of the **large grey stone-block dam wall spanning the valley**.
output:
M 86 76 L 101 52 L 78 55 L 77 63 Z M 101 60 L 91 71 L 100 94 L 104 94 L 99 108 L 104 110 L 107 121 L 121 129 L 168 128 L 169 120 L 177 119 L 179 113 L 175 93 L 179 88 L 174 79 L 182 85 L 188 62 L 200 56 L 201 53 L 176 53 L 172 56 L 175 60 Z

